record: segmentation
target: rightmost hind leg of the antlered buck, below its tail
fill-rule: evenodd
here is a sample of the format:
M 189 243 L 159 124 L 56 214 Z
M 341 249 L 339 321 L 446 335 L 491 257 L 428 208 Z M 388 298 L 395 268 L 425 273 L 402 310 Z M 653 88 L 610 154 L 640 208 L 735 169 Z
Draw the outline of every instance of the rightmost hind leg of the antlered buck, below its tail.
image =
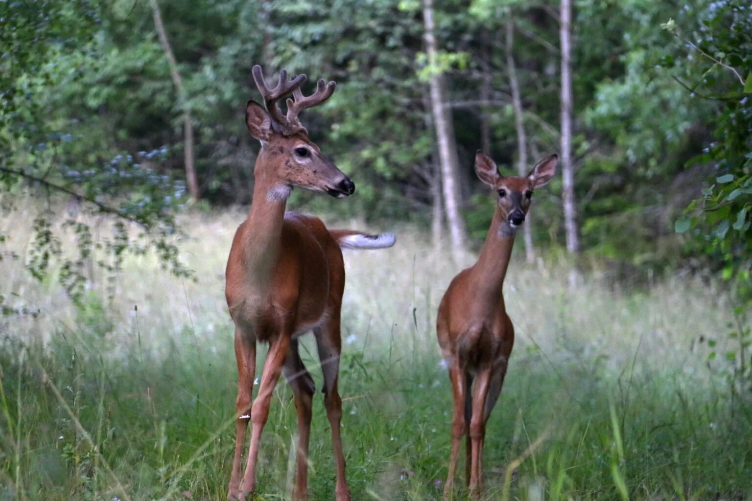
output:
M 342 399 L 339 396 L 339 357 L 342 351 L 342 340 L 339 326 L 339 312 L 335 318 L 330 318 L 322 328 L 314 330 L 316 344 L 324 376 L 324 405 L 329 426 L 332 427 L 332 446 L 334 447 L 337 465 L 337 487 L 335 487 L 336 501 L 350 501 L 350 488 L 344 475 L 344 454 L 342 454 L 342 439 L 340 424 L 342 419 Z

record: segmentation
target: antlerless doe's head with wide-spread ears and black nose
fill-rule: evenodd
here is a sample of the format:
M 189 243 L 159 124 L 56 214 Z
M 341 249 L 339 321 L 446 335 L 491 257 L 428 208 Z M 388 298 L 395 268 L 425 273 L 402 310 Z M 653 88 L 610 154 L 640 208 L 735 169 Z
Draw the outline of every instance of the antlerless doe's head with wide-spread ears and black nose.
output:
M 517 228 L 525 222 L 532 192 L 553 178 L 558 161 L 558 155 L 550 155 L 535 164 L 526 177 L 505 177 L 499 174 L 496 163 L 479 150 L 475 154 L 475 174 L 478 174 L 478 179 L 486 186 L 496 191 L 503 220 L 508 222 L 511 228 Z

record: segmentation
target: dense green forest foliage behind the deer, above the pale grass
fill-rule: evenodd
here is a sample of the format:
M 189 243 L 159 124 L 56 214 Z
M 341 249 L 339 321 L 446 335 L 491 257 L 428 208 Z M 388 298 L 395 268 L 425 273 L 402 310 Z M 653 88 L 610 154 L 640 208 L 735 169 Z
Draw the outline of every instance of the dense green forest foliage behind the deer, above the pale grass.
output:
M 261 63 L 339 84 L 326 106 L 305 117 L 314 140 L 358 185 L 356 198 L 327 209 L 424 223 L 437 161 L 426 77 L 444 71 L 465 219 L 481 236 L 490 211 L 472 173 L 473 152 L 490 150 L 511 172 L 517 151 L 504 53 L 510 20 L 529 156 L 559 148 L 555 3 L 442 2 L 439 68 L 426 65 L 416 0 L 162 0 L 159 7 L 184 98 L 149 2 L 3 2 L 7 189 L 44 180 L 98 201 L 96 210 L 107 205 L 168 234 L 168 208 L 184 199 L 182 115 L 190 110 L 205 203 L 247 204 L 257 147 L 242 110 L 256 95 L 250 67 Z M 696 263 L 682 258 L 698 255 L 705 237 L 698 231 L 688 245 L 674 221 L 708 177 L 725 174 L 734 178 L 724 186 L 744 196 L 708 222 L 726 220 L 729 236 L 748 240 L 742 185 L 749 168 L 736 160 L 750 141 L 750 103 L 736 78 L 749 73 L 748 9 L 730 0 L 575 3 L 576 189 L 590 255 L 629 269 Z M 174 187 L 165 190 L 168 180 Z M 534 217 L 547 221 L 534 225 L 535 241 L 547 246 L 562 241 L 556 183 L 535 208 Z M 712 196 L 720 186 L 708 188 Z M 326 204 L 295 197 L 293 207 Z M 729 246 L 717 248 L 714 262 L 729 252 L 748 262 L 747 244 L 741 254 L 738 244 Z

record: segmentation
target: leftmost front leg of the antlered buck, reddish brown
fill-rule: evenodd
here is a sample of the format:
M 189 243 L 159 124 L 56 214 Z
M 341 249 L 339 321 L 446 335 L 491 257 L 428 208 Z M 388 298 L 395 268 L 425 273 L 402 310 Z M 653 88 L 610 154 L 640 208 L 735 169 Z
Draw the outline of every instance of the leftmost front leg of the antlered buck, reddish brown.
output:
M 227 499 L 238 497 L 240 466 L 245 445 L 245 430 L 250 421 L 250 402 L 253 394 L 253 378 L 256 375 L 256 340 L 244 335 L 235 327 L 235 360 L 238 362 L 238 399 L 235 401 L 235 456 L 232 458 L 232 475 Z

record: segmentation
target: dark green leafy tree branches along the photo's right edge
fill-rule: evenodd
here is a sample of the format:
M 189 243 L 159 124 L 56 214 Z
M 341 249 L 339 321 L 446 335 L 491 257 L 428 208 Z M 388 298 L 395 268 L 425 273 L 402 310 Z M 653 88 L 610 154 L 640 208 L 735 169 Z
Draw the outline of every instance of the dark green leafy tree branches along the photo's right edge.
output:
M 710 163 L 714 173 L 702 197 L 690 202 L 675 222 L 675 230 L 692 229 L 696 240 L 720 267 L 735 307 L 729 324 L 726 352 L 732 403 L 739 394 L 752 394 L 752 17 L 745 2 L 726 0 L 700 11 L 701 28 L 684 35 L 673 19 L 663 29 L 681 41 L 675 55 L 663 59 L 681 71 L 689 83 L 675 76 L 678 86 L 702 101 L 721 104 L 712 118 L 710 143 L 693 163 Z M 737 69 L 738 68 L 738 69 Z M 742 77 L 746 75 L 746 78 Z M 714 346 L 715 340 L 709 341 Z M 715 350 L 710 357 L 715 358 Z

